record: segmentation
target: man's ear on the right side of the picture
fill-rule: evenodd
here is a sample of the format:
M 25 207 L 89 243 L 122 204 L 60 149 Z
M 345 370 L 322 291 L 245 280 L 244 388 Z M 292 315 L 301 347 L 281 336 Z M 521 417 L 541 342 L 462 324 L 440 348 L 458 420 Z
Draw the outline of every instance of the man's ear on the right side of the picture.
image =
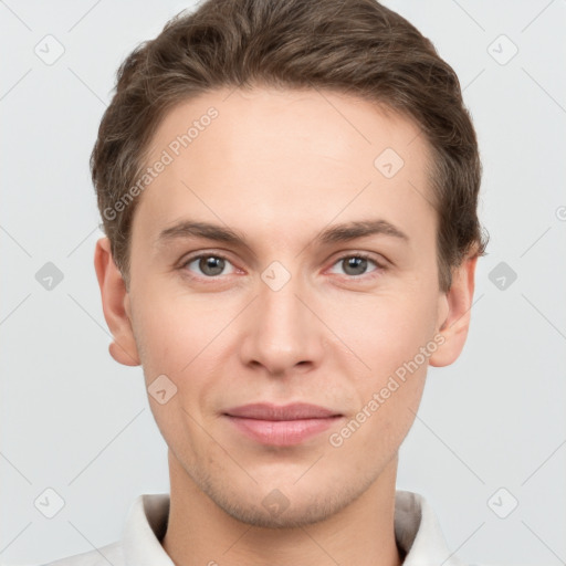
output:
M 437 328 L 444 342 L 429 357 L 431 366 L 453 364 L 464 347 L 470 327 L 476 263 L 478 255 L 468 258 L 452 272 L 452 285 L 439 305 Z

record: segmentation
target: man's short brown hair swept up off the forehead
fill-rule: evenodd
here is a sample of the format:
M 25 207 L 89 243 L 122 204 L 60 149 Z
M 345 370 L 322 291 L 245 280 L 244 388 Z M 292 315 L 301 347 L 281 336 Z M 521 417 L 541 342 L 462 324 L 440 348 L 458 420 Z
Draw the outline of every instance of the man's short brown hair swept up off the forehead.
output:
M 140 43 L 116 76 L 91 171 L 126 289 L 136 201 L 119 213 L 115 203 L 144 170 L 165 113 L 221 87 L 335 91 L 411 118 L 432 149 L 440 289 L 450 289 L 463 259 L 485 253 L 476 216 L 482 167 L 458 76 L 411 23 L 375 0 L 207 0 Z

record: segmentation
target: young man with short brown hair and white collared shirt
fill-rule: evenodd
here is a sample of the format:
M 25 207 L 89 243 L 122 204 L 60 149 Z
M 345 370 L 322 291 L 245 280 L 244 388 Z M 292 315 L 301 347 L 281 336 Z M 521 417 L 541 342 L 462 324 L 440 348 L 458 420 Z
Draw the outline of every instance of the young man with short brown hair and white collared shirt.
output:
M 209 0 L 118 71 L 95 269 L 170 495 L 57 566 L 461 564 L 396 492 L 486 241 L 458 78 L 374 0 Z

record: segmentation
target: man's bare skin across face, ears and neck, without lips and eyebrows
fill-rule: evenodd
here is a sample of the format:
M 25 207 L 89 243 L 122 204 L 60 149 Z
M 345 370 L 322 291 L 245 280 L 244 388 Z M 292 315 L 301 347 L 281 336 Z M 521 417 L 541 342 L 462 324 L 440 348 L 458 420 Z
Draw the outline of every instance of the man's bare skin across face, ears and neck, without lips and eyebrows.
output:
M 448 293 L 439 290 L 429 148 L 412 122 L 337 93 L 216 91 L 166 115 L 148 163 L 210 106 L 219 116 L 138 197 L 128 292 L 108 240 L 95 251 L 111 355 L 140 364 L 147 387 L 163 374 L 177 387 L 164 405 L 149 396 L 169 447 L 161 544 L 184 566 L 398 565 L 398 450 L 428 365 L 452 364 L 462 350 L 476 256 L 454 270 Z M 374 166 L 387 147 L 405 160 L 390 179 Z M 188 218 L 238 230 L 247 245 L 156 244 Z M 315 242 L 336 223 L 376 218 L 408 241 Z M 221 253 L 223 271 L 189 262 L 197 252 Z M 348 269 L 360 252 L 370 255 L 365 270 Z M 291 275 L 279 291 L 261 276 L 273 261 Z M 332 446 L 329 436 L 434 336 L 443 344 Z M 263 446 L 222 416 L 259 401 L 311 402 L 344 417 L 301 444 Z M 262 504 L 275 489 L 289 503 L 279 514 Z

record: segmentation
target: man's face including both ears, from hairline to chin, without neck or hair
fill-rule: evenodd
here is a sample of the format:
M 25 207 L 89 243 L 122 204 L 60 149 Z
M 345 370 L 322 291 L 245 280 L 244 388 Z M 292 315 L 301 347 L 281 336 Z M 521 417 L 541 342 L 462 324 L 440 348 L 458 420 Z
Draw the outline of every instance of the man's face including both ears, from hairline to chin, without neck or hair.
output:
M 168 163 L 137 197 L 128 293 L 97 250 L 113 355 L 160 391 L 185 482 L 255 525 L 329 516 L 396 462 L 427 366 L 465 336 L 447 321 L 473 265 L 439 291 L 423 136 L 357 98 L 255 88 L 175 107 L 151 148 Z

